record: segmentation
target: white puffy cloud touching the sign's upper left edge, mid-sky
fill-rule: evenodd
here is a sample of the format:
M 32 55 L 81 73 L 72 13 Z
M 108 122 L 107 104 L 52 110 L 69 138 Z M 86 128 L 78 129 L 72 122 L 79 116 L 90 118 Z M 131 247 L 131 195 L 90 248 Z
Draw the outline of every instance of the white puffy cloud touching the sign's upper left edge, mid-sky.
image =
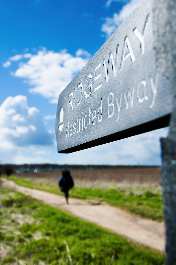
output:
M 25 83 L 31 87 L 31 93 L 48 98 L 50 103 L 58 103 L 60 92 L 87 63 L 91 55 L 83 49 L 79 49 L 76 56 L 69 54 L 65 49 L 59 52 L 47 51 L 45 47 L 40 49 L 34 55 L 18 54 L 9 58 L 11 61 L 29 59 L 25 63 L 20 62 L 12 75 L 25 78 Z

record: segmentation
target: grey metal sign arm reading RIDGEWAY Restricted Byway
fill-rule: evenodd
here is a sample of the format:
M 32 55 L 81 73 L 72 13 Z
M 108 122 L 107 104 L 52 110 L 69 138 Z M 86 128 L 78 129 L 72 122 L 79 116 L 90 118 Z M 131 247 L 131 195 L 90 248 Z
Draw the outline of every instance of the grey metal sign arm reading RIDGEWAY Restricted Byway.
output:
M 155 53 L 153 1 L 144 0 L 59 95 L 59 153 L 168 125 L 171 85 Z

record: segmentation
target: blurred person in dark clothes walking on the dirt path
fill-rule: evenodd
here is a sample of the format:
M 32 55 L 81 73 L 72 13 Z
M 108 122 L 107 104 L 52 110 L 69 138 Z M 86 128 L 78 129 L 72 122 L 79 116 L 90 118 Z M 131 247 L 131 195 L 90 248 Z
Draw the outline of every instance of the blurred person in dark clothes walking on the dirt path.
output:
M 72 189 L 74 187 L 74 182 L 72 176 L 70 175 L 70 171 L 68 170 L 62 171 L 62 175 L 59 178 L 58 185 L 61 191 L 65 193 L 66 203 L 68 204 L 69 189 Z

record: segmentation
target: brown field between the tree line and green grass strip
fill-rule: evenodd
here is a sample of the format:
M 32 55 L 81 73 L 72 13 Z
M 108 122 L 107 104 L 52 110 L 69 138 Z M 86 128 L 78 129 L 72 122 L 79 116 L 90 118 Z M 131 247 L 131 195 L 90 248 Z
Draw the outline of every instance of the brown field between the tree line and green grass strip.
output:
M 160 186 L 160 167 L 130 167 L 119 169 L 73 170 L 75 185 L 79 187 L 111 188 L 116 185 Z M 61 171 L 13 174 L 35 182 L 58 183 Z

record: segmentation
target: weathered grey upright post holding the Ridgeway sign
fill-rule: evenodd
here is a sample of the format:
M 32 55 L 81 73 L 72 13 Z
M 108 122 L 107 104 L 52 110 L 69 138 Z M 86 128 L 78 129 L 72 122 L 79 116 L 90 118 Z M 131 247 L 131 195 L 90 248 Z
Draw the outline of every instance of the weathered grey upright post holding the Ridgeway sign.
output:
M 173 113 L 167 138 L 161 138 L 161 166 L 166 227 L 166 263 L 176 264 L 176 1 L 154 3 L 154 32 L 157 71 L 170 80 Z M 162 24 L 161 24 L 162 23 Z

